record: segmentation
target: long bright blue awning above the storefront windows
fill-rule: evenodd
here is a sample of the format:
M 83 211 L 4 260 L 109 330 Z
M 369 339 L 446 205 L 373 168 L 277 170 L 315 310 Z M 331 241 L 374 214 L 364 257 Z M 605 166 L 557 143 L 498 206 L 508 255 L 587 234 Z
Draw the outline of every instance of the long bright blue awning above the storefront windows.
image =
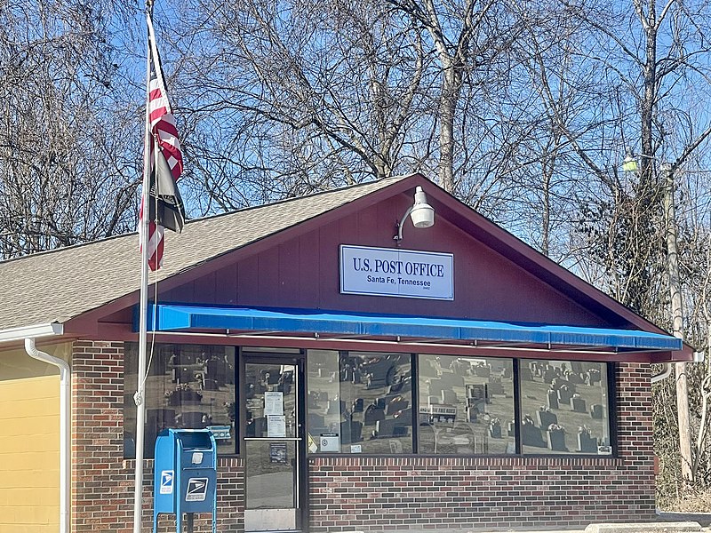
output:
M 683 350 L 681 339 L 660 333 L 539 323 L 172 304 L 151 306 L 148 316 L 148 330 L 163 333 L 391 341 L 410 343 L 413 351 L 414 346 L 451 345 L 485 348 L 487 352 L 573 352 L 623 360 L 625 354 L 652 357 Z

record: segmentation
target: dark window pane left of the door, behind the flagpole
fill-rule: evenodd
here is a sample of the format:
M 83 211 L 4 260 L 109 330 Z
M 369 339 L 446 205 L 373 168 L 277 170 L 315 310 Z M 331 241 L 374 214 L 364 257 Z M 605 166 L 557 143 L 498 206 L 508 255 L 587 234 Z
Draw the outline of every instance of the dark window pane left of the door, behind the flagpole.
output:
M 138 345 L 125 343 L 124 457 L 135 457 Z M 235 348 L 156 345 L 146 379 L 144 457 L 153 457 L 156 436 L 173 428 L 212 429 L 218 453 L 234 454 Z

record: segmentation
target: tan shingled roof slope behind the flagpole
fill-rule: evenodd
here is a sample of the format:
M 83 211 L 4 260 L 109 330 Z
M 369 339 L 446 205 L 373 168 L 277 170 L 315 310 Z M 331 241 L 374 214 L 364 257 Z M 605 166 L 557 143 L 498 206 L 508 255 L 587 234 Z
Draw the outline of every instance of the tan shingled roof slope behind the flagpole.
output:
M 403 177 L 189 221 L 165 232 L 157 281 L 332 211 Z M 154 280 L 151 274 L 151 281 Z M 140 290 L 137 234 L 120 235 L 0 262 L 0 330 L 66 322 Z

